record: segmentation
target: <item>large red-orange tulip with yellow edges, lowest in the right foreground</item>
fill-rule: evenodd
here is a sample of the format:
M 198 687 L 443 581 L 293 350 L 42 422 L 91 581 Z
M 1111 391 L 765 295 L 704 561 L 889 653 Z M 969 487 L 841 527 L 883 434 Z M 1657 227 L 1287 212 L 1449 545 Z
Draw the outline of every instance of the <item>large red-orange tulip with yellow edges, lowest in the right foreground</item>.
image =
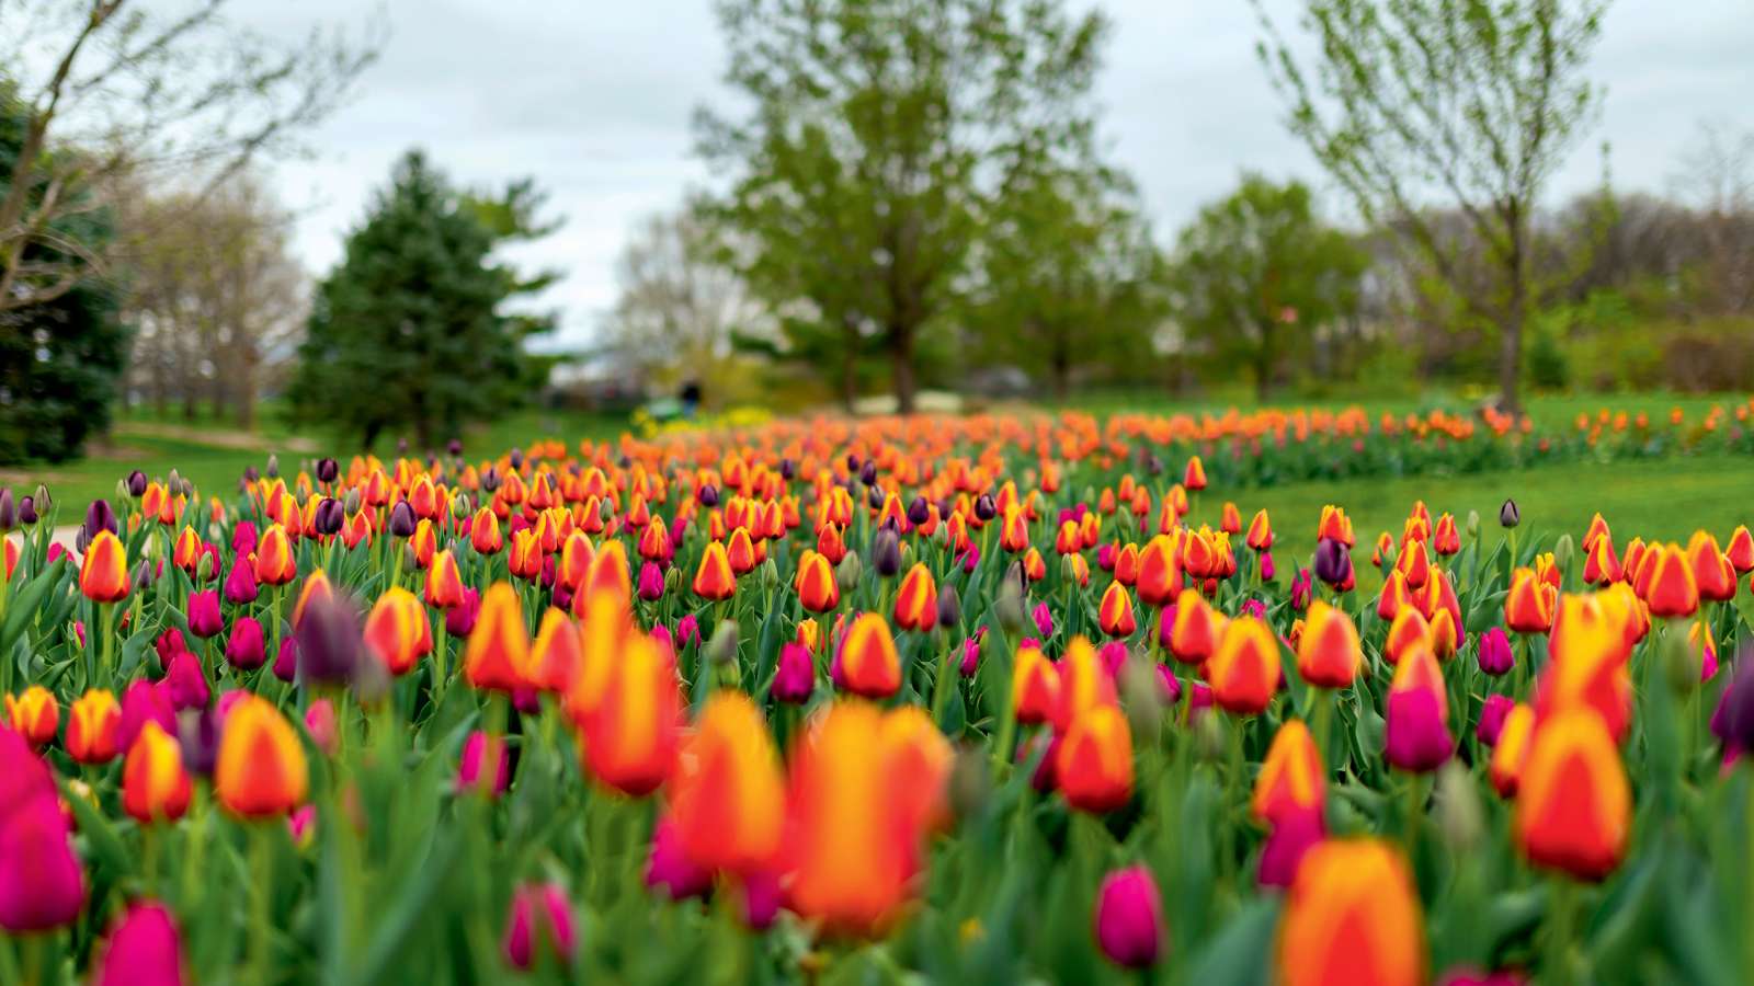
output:
M 1535 725 L 1512 835 L 1538 867 L 1600 881 L 1631 833 L 1631 786 L 1601 716 L 1573 707 Z

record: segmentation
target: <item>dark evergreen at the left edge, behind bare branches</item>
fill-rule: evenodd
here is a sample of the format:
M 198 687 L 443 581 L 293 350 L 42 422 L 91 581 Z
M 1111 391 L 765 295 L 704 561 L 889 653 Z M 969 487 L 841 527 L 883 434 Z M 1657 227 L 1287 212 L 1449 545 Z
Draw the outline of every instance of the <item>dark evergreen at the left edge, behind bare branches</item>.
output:
M 0 175 L 18 174 L 30 118 L 0 86 Z M 30 174 L 75 167 L 70 149 L 44 149 L 54 158 Z M 37 209 L 51 195 L 44 177 L 32 179 L 19 195 L 23 207 Z M 60 267 L 70 258 L 53 244 L 107 244 L 114 226 L 88 186 L 70 182 L 53 189 L 67 209 L 46 221 L 44 235 L 23 246 L 23 268 Z M 118 319 L 118 288 L 86 270 L 53 298 L 32 305 L 0 307 L 0 465 L 25 460 L 61 461 L 77 456 L 86 439 L 109 428 L 121 377 L 128 333 Z

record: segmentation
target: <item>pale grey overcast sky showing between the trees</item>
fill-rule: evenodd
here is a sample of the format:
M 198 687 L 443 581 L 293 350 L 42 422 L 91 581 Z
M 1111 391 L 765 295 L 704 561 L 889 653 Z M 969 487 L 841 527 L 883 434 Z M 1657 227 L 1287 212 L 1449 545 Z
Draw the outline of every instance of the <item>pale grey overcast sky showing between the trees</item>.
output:
M 1103 132 L 1144 189 L 1159 242 L 1244 168 L 1319 184 L 1256 63 L 1249 4 L 1096 2 L 1116 28 L 1098 82 Z M 1270 7 L 1289 25 L 1298 4 Z M 232 16 L 302 33 L 360 21 L 361 9 L 360 0 L 235 0 Z M 535 175 L 567 225 L 521 256 L 568 272 L 547 298 L 563 312 L 551 344 L 588 344 L 614 304 L 628 230 L 709 179 L 691 156 L 689 116 L 726 98 L 710 0 L 388 0 L 384 19 L 382 58 L 312 135 L 314 158 L 274 167 L 298 211 L 300 258 L 312 274 L 335 261 L 372 188 L 410 146 L 468 184 Z M 1556 193 L 1600 181 L 1601 140 L 1617 188 L 1663 191 L 1701 119 L 1754 126 L 1750 49 L 1750 0 L 1617 0 L 1594 60 L 1607 86 L 1600 132 L 1566 163 Z

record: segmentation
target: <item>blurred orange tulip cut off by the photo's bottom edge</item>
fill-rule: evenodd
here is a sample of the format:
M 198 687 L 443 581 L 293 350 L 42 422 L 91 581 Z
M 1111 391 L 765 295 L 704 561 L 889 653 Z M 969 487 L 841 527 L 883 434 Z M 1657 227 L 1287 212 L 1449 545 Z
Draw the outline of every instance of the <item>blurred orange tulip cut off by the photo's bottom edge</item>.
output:
M 1407 861 L 1379 839 L 1330 839 L 1303 854 L 1279 916 L 1286 986 L 1426 981 L 1424 914 Z

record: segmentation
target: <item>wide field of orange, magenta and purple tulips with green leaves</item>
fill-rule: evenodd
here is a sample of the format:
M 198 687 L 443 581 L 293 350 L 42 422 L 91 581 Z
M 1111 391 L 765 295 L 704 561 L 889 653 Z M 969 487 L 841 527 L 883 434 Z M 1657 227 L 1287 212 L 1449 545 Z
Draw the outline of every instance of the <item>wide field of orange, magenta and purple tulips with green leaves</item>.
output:
M 0 489 L 0 984 L 1754 982 L 1754 535 L 1515 502 L 1750 411 Z M 1431 495 L 1252 502 L 1373 477 Z

